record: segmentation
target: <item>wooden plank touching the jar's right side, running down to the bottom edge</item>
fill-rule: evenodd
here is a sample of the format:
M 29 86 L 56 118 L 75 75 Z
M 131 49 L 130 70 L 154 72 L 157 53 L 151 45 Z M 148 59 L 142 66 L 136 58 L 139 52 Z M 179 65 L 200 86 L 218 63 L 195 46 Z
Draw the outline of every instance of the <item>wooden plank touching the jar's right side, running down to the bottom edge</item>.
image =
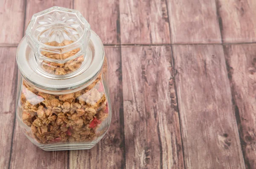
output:
M 105 48 L 109 64 L 111 126 L 107 134 L 92 149 L 70 151 L 70 169 L 123 169 L 125 166 L 120 50 L 120 47 Z

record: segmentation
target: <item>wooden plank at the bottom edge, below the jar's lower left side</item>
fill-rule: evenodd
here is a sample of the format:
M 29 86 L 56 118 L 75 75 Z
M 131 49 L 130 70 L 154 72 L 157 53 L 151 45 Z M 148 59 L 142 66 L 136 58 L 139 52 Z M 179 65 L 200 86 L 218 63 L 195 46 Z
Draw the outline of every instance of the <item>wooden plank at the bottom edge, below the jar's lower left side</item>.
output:
M 46 152 L 24 135 L 19 124 L 15 123 L 10 169 L 67 169 L 68 152 Z

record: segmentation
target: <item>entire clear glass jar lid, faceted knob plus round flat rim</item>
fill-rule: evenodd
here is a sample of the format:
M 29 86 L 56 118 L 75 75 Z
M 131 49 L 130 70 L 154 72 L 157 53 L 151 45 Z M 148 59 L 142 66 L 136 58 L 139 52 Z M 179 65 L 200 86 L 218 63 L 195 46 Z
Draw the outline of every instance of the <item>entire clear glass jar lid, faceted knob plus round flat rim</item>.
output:
M 33 15 L 16 60 L 26 80 L 41 89 L 60 91 L 96 78 L 104 56 L 102 41 L 80 12 L 54 6 Z

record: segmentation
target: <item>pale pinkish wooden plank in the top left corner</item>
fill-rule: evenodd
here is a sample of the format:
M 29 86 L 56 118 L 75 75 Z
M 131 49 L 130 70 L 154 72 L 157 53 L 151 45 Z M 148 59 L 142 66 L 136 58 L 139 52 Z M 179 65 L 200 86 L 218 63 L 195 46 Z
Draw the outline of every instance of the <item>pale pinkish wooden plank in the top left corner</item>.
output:
M 24 0 L 0 0 L 0 46 L 12 46 L 23 37 Z

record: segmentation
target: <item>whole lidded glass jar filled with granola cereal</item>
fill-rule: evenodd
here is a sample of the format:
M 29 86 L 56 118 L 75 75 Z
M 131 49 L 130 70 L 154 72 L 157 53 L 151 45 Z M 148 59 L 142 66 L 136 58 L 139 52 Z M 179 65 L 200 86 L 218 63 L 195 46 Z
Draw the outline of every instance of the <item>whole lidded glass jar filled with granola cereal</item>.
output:
M 16 116 L 46 151 L 90 149 L 111 122 L 108 61 L 90 25 L 73 9 L 34 14 L 17 47 Z

